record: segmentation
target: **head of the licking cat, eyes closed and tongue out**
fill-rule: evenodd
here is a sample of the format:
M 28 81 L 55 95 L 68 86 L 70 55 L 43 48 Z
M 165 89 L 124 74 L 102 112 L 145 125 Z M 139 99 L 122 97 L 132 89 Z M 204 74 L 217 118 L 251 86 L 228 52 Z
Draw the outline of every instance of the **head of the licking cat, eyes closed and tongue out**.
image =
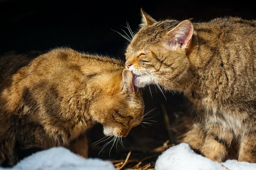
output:
M 157 22 L 142 9 L 141 15 L 141 28 L 126 49 L 126 68 L 134 74 L 137 87 L 167 82 L 175 90 L 189 69 L 186 51 L 193 25 L 189 20 Z

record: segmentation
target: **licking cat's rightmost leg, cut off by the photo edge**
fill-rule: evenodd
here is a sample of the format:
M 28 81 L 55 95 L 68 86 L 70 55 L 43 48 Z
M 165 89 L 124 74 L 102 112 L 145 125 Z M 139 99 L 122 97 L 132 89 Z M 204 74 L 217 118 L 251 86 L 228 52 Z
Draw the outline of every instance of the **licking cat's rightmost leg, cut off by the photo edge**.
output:
M 238 161 L 256 163 L 256 134 L 244 135 L 241 139 Z

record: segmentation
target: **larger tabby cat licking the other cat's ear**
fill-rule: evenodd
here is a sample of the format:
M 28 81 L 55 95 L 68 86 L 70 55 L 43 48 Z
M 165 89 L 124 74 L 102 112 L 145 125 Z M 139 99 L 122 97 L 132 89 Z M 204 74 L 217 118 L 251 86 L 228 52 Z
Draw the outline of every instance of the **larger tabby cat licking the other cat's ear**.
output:
M 193 103 L 193 123 L 180 142 L 215 161 L 237 145 L 239 161 L 256 162 L 256 20 L 157 22 L 141 12 L 125 54 L 135 86 L 158 84 Z

